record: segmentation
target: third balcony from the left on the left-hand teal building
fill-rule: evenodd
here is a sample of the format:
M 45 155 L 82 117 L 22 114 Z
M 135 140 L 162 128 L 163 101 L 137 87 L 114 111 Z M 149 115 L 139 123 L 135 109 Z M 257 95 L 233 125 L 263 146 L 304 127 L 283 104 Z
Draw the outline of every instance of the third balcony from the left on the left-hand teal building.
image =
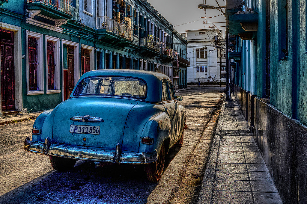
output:
M 150 37 L 141 37 L 140 47 L 140 52 L 147 56 L 157 56 L 160 53 L 160 44 Z

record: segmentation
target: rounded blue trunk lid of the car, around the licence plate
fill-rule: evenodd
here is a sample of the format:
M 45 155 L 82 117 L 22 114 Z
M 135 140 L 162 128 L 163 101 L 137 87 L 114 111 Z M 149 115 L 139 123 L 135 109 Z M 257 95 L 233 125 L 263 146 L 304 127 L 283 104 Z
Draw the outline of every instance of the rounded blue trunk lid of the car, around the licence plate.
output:
M 68 99 L 56 110 L 53 119 L 52 139 L 54 142 L 62 144 L 115 148 L 116 144 L 122 144 L 126 118 L 137 103 L 129 99 L 106 97 Z M 94 119 L 98 118 L 98 121 L 91 121 L 89 116 Z M 80 118 L 84 120 L 78 120 Z M 99 118 L 103 121 L 99 121 Z M 71 125 L 73 127 L 78 125 L 82 130 L 80 132 L 88 133 L 71 133 Z M 87 131 L 84 131 L 82 127 L 87 127 Z M 92 130 L 99 127 L 100 133 L 94 134 L 92 131 L 93 134 L 90 134 L 91 127 Z

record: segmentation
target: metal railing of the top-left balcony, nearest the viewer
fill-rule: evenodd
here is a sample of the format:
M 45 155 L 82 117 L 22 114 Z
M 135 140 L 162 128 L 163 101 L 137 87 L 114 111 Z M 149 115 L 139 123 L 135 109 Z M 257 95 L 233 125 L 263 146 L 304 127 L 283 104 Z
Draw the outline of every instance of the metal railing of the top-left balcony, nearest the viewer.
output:
M 42 3 L 72 15 L 72 0 L 27 0 L 27 3 Z

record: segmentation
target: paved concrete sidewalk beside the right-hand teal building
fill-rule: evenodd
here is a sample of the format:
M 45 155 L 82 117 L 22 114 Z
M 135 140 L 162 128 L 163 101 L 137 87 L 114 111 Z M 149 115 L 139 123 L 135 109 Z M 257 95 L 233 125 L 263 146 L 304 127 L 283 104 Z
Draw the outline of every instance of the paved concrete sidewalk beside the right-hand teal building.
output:
M 224 100 L 197 204 L 282 204 L 232 95 Z

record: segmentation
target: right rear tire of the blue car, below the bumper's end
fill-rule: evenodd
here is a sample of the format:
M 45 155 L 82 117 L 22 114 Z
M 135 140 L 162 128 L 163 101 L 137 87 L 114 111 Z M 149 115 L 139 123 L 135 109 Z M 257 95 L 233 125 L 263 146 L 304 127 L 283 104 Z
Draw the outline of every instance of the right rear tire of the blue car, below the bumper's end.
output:
M 145 173 L 150 182 L 158 182 L 161 179 L 165 163 L 165 148 L 164 143 L 161 146 L 158 160 L 151 164 L 146 164 Z

